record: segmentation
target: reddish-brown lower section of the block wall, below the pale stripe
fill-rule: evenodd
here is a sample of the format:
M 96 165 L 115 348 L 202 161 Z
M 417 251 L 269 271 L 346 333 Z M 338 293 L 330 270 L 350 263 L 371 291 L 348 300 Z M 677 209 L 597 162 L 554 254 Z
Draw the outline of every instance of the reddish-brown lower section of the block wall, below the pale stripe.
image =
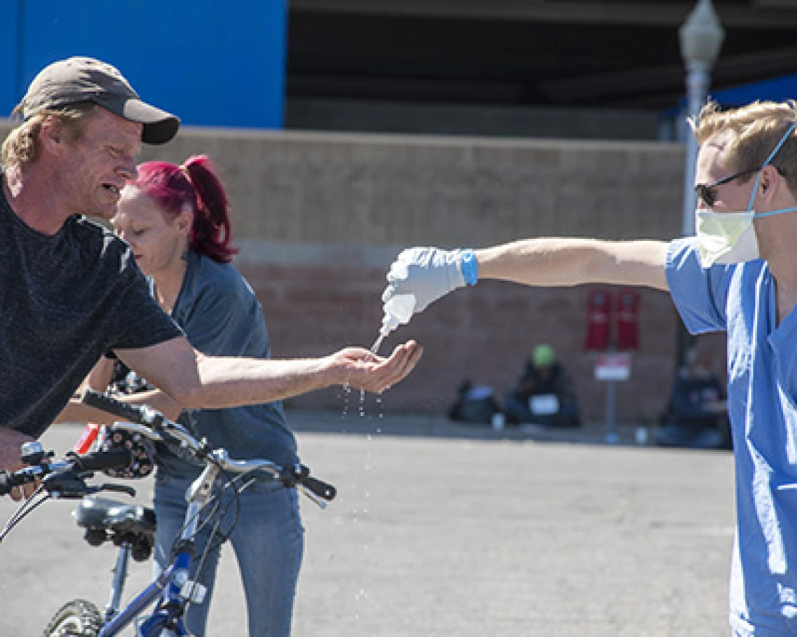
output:
M 344 343 L 374 342 L 382 318 L 383 269 L 259 265 L 245 272 L 261 294 L 275 356 L 314 356 Z M 672 303 L 662 292 L 640 292 L 642 350 L 634 357 L 632 380 L 618 384 L 621 420 L 654 419 L 673 370 L 677 316 Z M 603 420 L 606 386 L 594 380 L 593 360 L 583 353 L 586 301 L 587 287 L 528 288 L 498 281 L 441 299 L 383 344 L 384 353 L 414 338 L 425 353 L 410 377 L 385 394 L 382 408 L 445 412 L 466 377 L 503 394 L 532 347 L 550 342 L 574 376 L 584 415 Z M 292 404 L 342 409 L 344 396 L 330 389 Z M 372 398 L 366 407 L 375 407 Z

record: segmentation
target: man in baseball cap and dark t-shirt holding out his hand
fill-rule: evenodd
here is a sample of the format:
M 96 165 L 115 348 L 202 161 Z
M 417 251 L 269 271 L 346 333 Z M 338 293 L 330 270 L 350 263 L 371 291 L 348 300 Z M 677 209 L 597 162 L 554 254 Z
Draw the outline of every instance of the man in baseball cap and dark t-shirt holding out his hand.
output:
M 414 342 L 390 358 L 353 347 L 288 361 L 199 354 L 150 295 L 128 244 L 84 216 L 116 213 L 141 144 L 167 143 L 179 119 L 89 57 L 44 68 L 14 112 L 22 123 L 0 167 L 0 469 L 21 466 L 19 445 L 49 427 L 109 350 L 190 409 L 338 384 L 381 392 L 418 362 Z

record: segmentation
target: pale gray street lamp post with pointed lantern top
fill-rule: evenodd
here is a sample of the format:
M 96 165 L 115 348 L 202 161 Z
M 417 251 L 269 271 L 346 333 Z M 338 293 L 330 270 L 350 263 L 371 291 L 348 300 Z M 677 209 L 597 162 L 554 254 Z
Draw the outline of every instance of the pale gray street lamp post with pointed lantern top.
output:
M 686 103 L 689 117 L 697 116 L 709 94 L 711 68 L 720 53 L 725 32 L 711 0 L 698 0 L 692 12 L 678 29 L 681 41 L 681 57 L 686 66 Z M 683 233 L 690 236 L 695 231 L 694 194 L 695 162 L 697 142 L 694 135 L 686 135 L 686 163 L 684 175 Z

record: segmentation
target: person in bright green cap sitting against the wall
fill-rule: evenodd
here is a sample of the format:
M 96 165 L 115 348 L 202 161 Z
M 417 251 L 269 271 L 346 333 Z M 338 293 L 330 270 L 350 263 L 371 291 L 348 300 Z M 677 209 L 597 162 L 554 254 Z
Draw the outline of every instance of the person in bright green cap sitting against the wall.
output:
M 506 396 L 505 412 L 510 424 L 581 424 L 573 381 L 552 346 L 541 344 L 532 350 L 515 388 Z

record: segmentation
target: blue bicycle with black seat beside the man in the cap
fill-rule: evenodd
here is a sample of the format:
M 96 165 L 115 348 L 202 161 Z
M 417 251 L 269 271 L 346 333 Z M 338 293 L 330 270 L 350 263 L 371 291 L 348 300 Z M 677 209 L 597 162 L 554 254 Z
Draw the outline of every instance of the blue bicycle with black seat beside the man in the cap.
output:
M 135 626 L 136 637 L 161 637 L 164 635 L 162 631 L 168 631 L 165 634 L 174 637 L 190 637 L 183 622 L 184 612 L 188 604 L 202 604 L 205 594 L 201 584 L 189 579 L 190 568 L 194 563 L 194 537 L 202 528 L 200 514 L 217 499 L 214 485 L 219 475 L 234 475 L 224 487 L 235 488 L 238 493 L 254 479 L 265 474 L 277 479 L 286 488 L 300 490 L 322 508 L 326 506 L 324 501 L 332 501 L 336 496 L 335 487 L 312 477 L 310 470 L 304 465 L 281 467 L 266 459 L 230 459 L 225 449 L 210 449 L 206 441 L 196 440 L 182 425 L 168 420 L 162 413 L 146 405 L 127 404 L 91 390 L 84 393 L 83 401 L 124 419 L 124 422 L 117 422 L 115 428 L 139 433 L 154 442 L 181 445 L 194 458 L 200 460 L 204 468 L 186 491 L 188 507 L 185 524 L 175 543 L 170 565 L 124 608 L 121 608 L 121 599 L 129 561 L 131 557 L 136 561 L 150 557 L 155 537 L 155 512 L 146 506 L 125 505 L 105 498 L 83 498 L 83 495 L 95 494 L 101 490 L 135 494 L 135 490 L 116 484 L 90 487 L 84 482 L 88 477 L 87 470 L 79 474 L 81 477 L 76 481 L 73 477 L 75 471 L 69 469 L 72 467 L 69 461 L 48 464 L 44 454 L 41 457 L 27 455 L 29 460 L 35 462 L 23 459 L 33 464 L 33 467 L 26 467 L 14 474 L 0 475 L 0 494 L 4 494 L 8 493 L 8 490 L 3 491 L 4 484 L 8 483 L 11 487 L 14 486 L 12 483 L 32 482 L 41 475 L 45 477 L 41 481 L 40 489 L 49 490 L 49 487 L 57 486 L 57 479 L 53 479 L 52 475 L 66 475 L 71 471 L 68 479 L 71 487 L 69 495 L 65 496 L 65 490 L 62 489 L 57 492 L 57 497 L 83 498 L 75 511 L 75 519 L 78 526 L 86 529 L 84 537 L 89 545 L 101 545 L 105 541 L 113 541 L 119 545 L 110 598 L 104 612 L 100 612 L 96 604 L 88 600 L 71 600 L 55 613 L 45 628 L 44 637 L 114 637 L 132 624 Z M 104 455 L 108 453 L 114 454 L 116 451 L 100 451 L 89 455 L 92 459 L 89 466 L 97 466 L 102 462 L 109 464 L 111 460 Z M 121 459 L 122 455 L 116 455 L 113 466 L 98 467 L 96 471 L 126 466 L 121 463 Z M 130 455 L 126 456 L 126 463 L 130 459 Z M 56 466 L 61 468 L 56 469 Z M 12 520 L 21 519 L 26 513 L 14 514 Z M 6 530 L 0 532 L 0 541 L 5 533 Z M 221 541 L 225 539 L 226 537 L 222 537 Z M 206 550 L 209 549 L 206 547 Z M 145 613 L 153 605 L 151 612 Z

